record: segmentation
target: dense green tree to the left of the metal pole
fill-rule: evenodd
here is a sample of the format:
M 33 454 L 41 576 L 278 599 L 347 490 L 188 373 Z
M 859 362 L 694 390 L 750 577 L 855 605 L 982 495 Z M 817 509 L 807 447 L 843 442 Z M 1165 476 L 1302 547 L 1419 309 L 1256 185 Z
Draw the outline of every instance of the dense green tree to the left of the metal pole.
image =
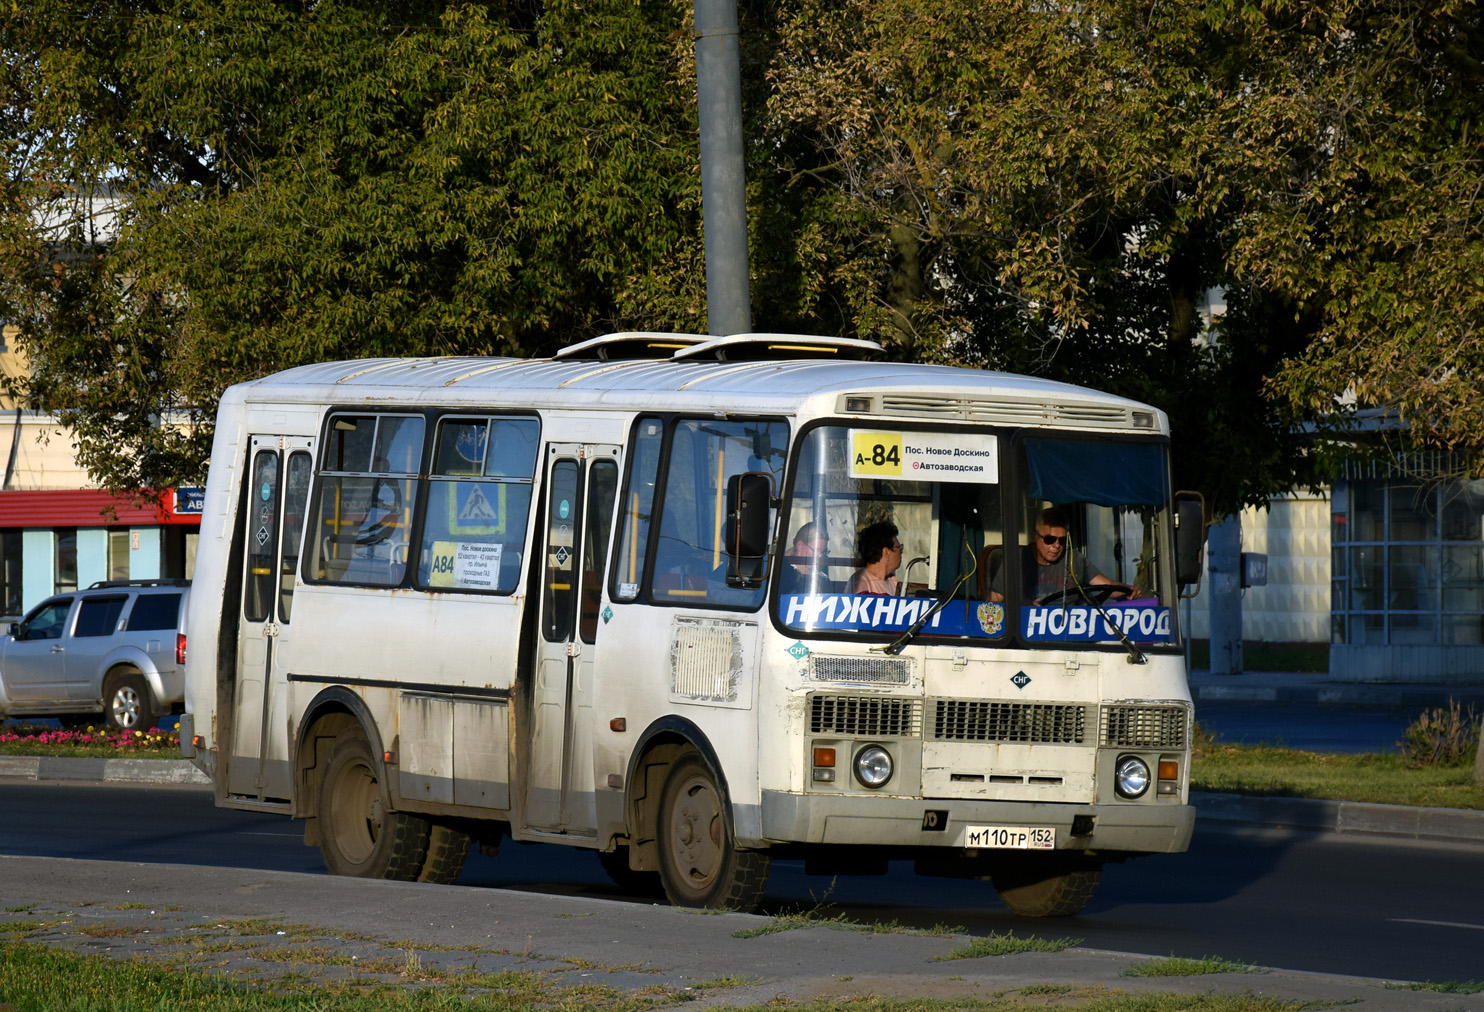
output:
M 104 484 L 199 479 L 227 383 L 307 361 L 536 355 L 654 316 L 697 231 L 668 3 L 36 0 L 0 42 L 4 301 Z M 22 157 L 25 154 L 27 157 Z M 39 206 L 120 194 L 120 227 Z M 76 224 L 76 223 L 74 223 Z M 674 300 L 672 300 L 674 301 Z M 172 413 L 193 427 L 162 429 Z

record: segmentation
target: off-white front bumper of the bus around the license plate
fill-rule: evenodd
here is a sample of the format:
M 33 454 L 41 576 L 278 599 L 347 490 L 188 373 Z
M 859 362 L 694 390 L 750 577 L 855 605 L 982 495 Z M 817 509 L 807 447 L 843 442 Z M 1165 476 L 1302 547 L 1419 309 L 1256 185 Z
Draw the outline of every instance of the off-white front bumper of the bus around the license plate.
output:
M 1180 853 L 1190 846 L 1189 804 L 1055 804 L 890 797 L 815 797 L 763 791 L 764 843 L 974 847 L 975 828 L 1057 831 L 1057 850 Z

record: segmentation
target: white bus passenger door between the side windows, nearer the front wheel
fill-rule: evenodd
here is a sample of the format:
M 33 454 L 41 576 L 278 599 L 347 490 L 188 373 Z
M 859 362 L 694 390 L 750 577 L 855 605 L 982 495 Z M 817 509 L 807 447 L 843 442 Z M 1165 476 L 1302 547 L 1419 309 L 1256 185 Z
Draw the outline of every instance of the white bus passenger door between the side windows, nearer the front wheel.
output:
M 531 690 L 525 825 L 597 832 L 592 662 L 619 488 L 619 448 L 546 448 L 545 559 Z

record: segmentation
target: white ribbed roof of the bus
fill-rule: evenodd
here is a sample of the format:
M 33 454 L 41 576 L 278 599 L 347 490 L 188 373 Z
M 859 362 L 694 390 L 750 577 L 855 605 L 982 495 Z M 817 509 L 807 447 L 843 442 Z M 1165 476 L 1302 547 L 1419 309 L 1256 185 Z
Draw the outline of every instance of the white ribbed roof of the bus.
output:
M 632 343 L 632 335 L 622 335 Z M 696 335 L 663 338 L 672 358 L 405 358 L 322 362 L 242 383 L 248 402 L 745 411 L 864 420 L 979 421 L 1168 432 L 1156 408 L 1086 387 L 982 369 L 905 362 L 712 361 Z M 748 335 L 752 337 L 752 335 Z M 720 338 L 726 341 L 727 338 Z M 818 338 L 816 338 L 818 340 Z M 838 340 L 838 338 L 835 338 Z M 855 343 L 864 344 L 864 343 Z M 712 407 L 715 405 L 715 407 Z

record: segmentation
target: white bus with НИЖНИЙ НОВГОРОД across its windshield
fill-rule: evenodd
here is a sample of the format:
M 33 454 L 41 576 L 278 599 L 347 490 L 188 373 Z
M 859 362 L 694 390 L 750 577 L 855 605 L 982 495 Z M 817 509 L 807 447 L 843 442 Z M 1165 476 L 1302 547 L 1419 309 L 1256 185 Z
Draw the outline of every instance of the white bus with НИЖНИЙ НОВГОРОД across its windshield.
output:
M 334 874 L 565 843 L 749 910 L 775 858 L 910 859 L 1064 916 L 1184 850 L 1202 530 L 1165 415 L 876 350 L 614 334 L 232 387 L 183 751 Z

